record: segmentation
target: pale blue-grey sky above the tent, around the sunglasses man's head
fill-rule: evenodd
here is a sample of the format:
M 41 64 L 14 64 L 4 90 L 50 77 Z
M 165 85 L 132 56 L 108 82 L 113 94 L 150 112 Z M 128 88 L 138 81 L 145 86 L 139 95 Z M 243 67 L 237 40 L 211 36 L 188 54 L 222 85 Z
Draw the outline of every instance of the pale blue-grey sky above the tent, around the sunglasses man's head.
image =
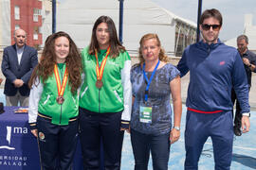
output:
M 162 8 L 174 14 L 197 22 L 198 0 L 152 0 Z M 202 0 L 202 11 L 217 8 L 223 15 L 223 27 L 220 33 L 222 40 L 237 37 L 244 31 L 245 14 L 253 14 L 253 25 L 256 26 L 256 0 Z

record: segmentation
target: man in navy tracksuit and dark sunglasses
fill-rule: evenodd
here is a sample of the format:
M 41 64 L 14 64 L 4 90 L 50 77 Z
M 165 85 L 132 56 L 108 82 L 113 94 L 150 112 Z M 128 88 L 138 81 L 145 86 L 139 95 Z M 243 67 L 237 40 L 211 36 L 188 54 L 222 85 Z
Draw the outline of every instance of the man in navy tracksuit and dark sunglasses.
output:
M 230 168 L 233 143 L 231 89 L 241 106 L 242 130 L 249 130 L 247 76 L 238 51 L 220 42 L 222 15 L 205 10 L 200 18 L 203 40 L 187 47 L 177 68 L 190 71 L 185 130 L 185 169 L 198 169 L 202 148 L 210 136 L 215 170 Z

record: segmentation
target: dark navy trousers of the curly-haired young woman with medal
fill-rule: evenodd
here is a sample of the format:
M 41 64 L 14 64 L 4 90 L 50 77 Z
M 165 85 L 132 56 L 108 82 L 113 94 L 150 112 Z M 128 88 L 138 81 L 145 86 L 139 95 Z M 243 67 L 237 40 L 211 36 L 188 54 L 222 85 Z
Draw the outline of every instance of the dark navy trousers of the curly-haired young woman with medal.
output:
M 38 116 L 38 142 L 42 170 L 71 170 L 78 140 L 78 120 L 67 126 Z

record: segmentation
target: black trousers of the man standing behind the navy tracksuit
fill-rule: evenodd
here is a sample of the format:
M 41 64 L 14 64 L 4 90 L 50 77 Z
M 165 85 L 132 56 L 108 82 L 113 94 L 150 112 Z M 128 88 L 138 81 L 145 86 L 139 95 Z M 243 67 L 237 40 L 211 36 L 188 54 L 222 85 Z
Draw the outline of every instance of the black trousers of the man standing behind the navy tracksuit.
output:
M 248 89 L 248 91 L 250 90 L 250 87 Z M 234 89 L 232 89 L 231 91 L 231 100 L 232 100 L 232 103 L 233 105 L 235 104 L 235 101 L 236 101 L 236 104 L 235 104 L 235 114 L 234 114 L 234 111 L 233 111 L 233 115 L 235 116 L 234 118 L 234 126 L 236 127 L 241 127 L 241 120 L 242 120 L 242 114 L 241 114 L 241 108 L 240 108 L 240 104 L 237 100 L 237 97 L 236 97 L 236 93 L 234 91 Z

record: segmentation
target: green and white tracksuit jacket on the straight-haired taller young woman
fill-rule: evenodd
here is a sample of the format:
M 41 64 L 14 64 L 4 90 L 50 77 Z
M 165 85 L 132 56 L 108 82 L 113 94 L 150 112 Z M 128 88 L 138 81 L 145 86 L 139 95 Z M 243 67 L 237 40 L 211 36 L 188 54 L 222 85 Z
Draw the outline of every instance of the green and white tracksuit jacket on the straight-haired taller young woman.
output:
M 106 50 L 98 54 L 99 64 L 105 57 Z M 88 54 L 88 47 L 82 50 L 83 81 L 80 92 L 80 107 L 99 113 L 122 111 L 121 124 L 130 122 L 132 106 L 132 86 L 130 82 L 131 58 L 125 51 L 119 53 L 119 57 L 108 56 L 101 89 L 96 87 L 96 64 L 94 55 Z

